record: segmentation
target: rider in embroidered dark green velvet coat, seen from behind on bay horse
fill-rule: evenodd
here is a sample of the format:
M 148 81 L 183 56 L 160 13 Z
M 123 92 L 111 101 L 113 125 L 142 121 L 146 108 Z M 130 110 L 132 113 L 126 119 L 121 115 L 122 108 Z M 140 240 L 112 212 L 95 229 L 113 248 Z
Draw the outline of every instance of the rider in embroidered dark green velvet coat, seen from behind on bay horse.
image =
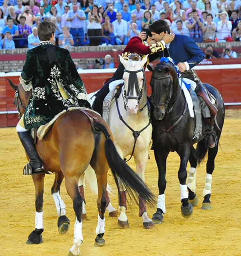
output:
M 85 86 L 75 68 L 68 50 L 53 44 L 56 27 L 50 21 L 38 26 L 40 44 L 29 50 L 19 78 L 25 91 L 32 89 L 24 115 L 16 130 L 29 157 L 24 173 L 44 172 L 35 149 L 30 129 L 47 124 L 61 111 L 70 107 L 87 107 L 90 104 Z

